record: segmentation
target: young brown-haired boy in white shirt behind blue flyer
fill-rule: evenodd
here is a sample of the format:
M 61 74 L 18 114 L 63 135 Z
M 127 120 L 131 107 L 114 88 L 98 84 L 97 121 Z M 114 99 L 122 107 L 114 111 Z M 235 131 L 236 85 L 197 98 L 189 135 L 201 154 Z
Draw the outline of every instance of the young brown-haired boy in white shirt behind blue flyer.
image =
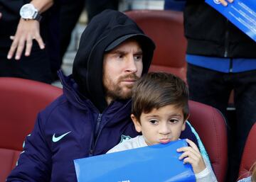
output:
M 117 144 L 107 153 L 178 140 L 188 118 L 185 82 L 173 74 L 146 74 L 132 89 L 131 118 L 137 132 L 142 132 L 142 135 Z M 179 159 L 193 167 L 196 181 L 217 181 L 208 160 L 202 157 L 196 144 L 186 141 L 189 146 L 179 148 L 177 152 L 183 152 Z

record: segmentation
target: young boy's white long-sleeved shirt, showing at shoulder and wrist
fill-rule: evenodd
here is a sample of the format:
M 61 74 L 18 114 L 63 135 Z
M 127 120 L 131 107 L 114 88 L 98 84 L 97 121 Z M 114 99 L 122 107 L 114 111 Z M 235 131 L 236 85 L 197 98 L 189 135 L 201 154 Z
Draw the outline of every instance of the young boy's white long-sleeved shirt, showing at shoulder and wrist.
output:
M 117 144 L 115 147 L 110 149 L 107 152 L 107 154 L 112 152 L 120 152 L 127 149 L 136 149 L 139 147 L 146 147 L 146 146 L 147 144 L 144 140 L 144 137 L 142 135 L 139 135 L 137 137 L 134 137 L 129 140 L 124 140 L 124 142 Z M 206 164 L 206 169 L 204 169 L 198 174 L 195 174 L 196 182 L 216 182 L 217 179 L 215 177 L 215 174 L 213 173 L 213 169 L 210 166 L 210 163 L 208 162 L 208 160 L 205 159 L 205 157 L 203 157 L 203 161 Z

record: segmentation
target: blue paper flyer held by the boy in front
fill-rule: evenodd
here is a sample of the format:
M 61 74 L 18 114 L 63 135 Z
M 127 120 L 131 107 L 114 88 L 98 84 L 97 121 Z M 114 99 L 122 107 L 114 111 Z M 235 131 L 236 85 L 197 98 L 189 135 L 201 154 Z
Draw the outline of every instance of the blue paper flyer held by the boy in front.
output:
M 176 149 L 186 140 L 75 159 L 78 182 L 196 181 L 191 164 L 183 164 Z

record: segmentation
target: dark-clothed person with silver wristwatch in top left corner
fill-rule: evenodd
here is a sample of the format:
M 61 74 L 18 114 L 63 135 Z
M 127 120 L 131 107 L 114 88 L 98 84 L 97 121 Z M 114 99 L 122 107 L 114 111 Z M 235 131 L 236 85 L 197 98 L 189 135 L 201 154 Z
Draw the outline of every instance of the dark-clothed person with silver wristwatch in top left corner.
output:
M 53 0 L 0 0 L 0 76 L 51 82 L 43 41 Z M 44 12 L 44 13 L 43 13 Z

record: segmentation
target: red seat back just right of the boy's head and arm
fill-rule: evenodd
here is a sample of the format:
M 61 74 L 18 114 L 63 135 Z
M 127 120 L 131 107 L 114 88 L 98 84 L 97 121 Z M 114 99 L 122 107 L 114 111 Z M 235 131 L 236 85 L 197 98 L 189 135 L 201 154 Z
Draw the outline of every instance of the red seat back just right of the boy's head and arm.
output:
M 213 171 L 219 182 L 225 181 L 228 144 L 225 118 L 217 109 L 203 103 L 189 101 L 189 122 L 195 127 L 206 147 Z

